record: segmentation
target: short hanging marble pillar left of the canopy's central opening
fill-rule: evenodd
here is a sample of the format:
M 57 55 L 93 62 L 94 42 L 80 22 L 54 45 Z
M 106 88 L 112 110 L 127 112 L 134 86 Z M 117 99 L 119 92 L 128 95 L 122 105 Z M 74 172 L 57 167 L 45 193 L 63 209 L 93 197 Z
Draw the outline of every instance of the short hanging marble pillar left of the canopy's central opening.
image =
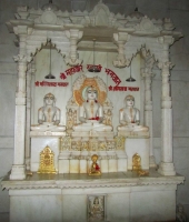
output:
M 78 29 L 66 30 L 66 37 L 70 40 L 70 53 L 69 58 L 66 58 L 66 63 L 69 65 L 81 64 L 82 60 L 79 60 L 77 52 L 78 41 L 82 38 L 83 31 Z

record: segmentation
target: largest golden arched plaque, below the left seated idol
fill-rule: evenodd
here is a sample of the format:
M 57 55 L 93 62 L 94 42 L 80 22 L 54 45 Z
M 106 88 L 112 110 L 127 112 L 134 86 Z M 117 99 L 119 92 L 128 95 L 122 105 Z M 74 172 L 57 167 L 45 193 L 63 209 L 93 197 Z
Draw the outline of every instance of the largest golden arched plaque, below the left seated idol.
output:
M 40 152 L 40 167 L 38 173 L 57 173 L 54 163 L 53 163 L 54 154 L 52 150 L 47 145 Z

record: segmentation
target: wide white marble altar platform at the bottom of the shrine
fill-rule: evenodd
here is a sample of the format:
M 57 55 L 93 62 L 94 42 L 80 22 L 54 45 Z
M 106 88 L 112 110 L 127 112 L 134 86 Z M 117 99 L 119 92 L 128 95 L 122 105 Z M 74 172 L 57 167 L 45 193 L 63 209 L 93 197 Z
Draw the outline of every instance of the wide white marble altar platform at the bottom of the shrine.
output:
M 88 200 L 105 198 L 103 221 L 152 222 L 176 219 L 176 190 L 183 176 L 149 176 L 136 172 L 37 174 L 22 181 L 2 181 L 9 190 L 11 222 L 87 222 Z M 19 204 L 18 204 L 19 203 Z

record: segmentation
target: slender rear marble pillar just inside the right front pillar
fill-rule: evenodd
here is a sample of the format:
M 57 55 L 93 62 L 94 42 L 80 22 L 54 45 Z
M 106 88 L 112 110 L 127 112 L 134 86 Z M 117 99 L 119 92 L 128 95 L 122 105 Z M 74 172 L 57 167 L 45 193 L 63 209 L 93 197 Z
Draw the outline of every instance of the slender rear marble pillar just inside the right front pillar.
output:
M 153 155 L 153 133 L 152 133 L 152 93 L 151 93 L 151 82 L 153 74 L 150 68 L 141 69 L 141 75 L 145 79 L 145 125 L 149 127 L 150 133 L 150 168 L 156 168 L 156 160 Z

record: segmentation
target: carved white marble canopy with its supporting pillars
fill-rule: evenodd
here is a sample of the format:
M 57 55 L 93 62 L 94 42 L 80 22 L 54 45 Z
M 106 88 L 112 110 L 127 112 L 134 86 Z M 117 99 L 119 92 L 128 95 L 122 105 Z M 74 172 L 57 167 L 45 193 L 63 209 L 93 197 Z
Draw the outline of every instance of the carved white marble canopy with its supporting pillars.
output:
M 62 12 L 53 10 L 29 9 L 18 7 L 16 19 L 7 22 L 11 32 L 19 37 L 18 88 L 16 94 L 16 137 L 14 161 L 10 178 L 24 179 L 24 125 L 26 125 L 26 71 L 33 56 L 51 39 L 68 65 L 82 62 L 78 49 L 84 49 L 89 39 L 99 37 L 98 48 L 102 51 L 117 50 L 113 62 L 117 68 L 130 64 L 133 56 L 145 49 L 142 57 L 146 65 L 142 75 L 146 82 L 146 123 L 152 130 L 151 105 L 151 69 L 157 62 L 162 74 L 162 160 L 159 172 L 165 175 L 176 174 L 172 163 L 172 108 L 169 73 L 172 64 L 169 59 L 169 47 L 182 37 L 175 31 L 170 19 L 149 19 L 147 16 L 132 18 L 113 14 L 101 1 L 91 12 Z M 98 31 L 97 31 L 98 30 Z M 103 39 L 103 42 L 101 40 Z M 150 133 L 152 134 L 152 132 Z M 152 154 L 152 137 L 150 137 L 150 155 Z M 169 153 L 169 155 L 168 155 Z M 153 164 L 153 163 L 151 163 Z

